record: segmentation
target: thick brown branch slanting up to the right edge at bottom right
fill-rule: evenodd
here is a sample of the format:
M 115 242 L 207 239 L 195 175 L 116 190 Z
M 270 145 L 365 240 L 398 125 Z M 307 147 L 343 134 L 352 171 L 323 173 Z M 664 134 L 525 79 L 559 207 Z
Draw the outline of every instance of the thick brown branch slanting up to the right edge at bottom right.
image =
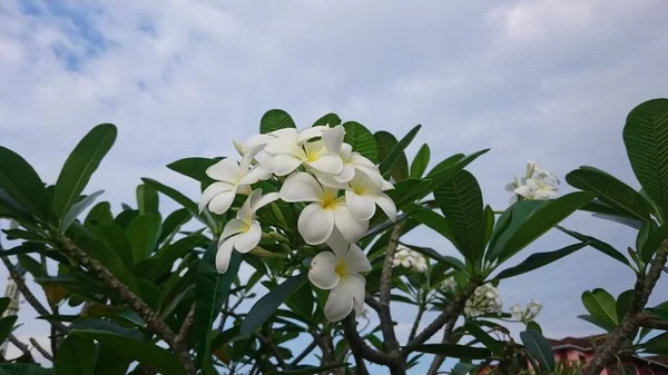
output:
M 668 251 L 668 239 L 661 243 L 661 247 L 657 251 L 649 272 L 647 275 L 638 275 L 636 286 L 633 288 L 633 297 L 628 313 L 623 316 L 617 328 L 608 336 L 606 342 L 597 347 L 596 354 L 591 362 L 584 368 L 583 375 L 598 375 L 612 361 L 625 341 L 638 328 L 641 324 L 644 314 L 642 309 L 647 305 L 647 300 L 661 276 L 661 269 L 666 265 L 666 255 Z

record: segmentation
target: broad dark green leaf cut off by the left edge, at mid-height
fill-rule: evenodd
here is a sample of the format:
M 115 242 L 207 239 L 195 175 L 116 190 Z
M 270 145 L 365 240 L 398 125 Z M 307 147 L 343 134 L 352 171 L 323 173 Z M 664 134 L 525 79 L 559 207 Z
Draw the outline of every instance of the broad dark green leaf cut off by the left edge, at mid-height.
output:
M 45 182 L 35 169 L 14 151 L 0 146 L 0 188 L 12 199 L 2 199 L 2 205 L 10 204 L 13 210 L 26 207 L 32 215 L 42 220 L 50 218 L 49 195 Z M 18 204 L 18 205 L 17 205 Z

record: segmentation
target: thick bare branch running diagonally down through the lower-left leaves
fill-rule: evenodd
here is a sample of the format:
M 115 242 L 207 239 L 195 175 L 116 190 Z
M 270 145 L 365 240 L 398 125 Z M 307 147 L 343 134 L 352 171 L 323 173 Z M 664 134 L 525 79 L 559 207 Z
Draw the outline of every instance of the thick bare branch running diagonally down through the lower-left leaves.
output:
M 109 287 L 115 289 L 119 295 L 120 299 L 130 308 L 132 308 L 139 316 L 146 322 L 148 327 L 155 332 L 161 339 L 164 339 L 174 351 L 179 362 L 186 369 L 188 375 L 197 375 L 197 368 L 190 359 L 190 355 L 187 351 L 183 349 L 176 342 L 176 335 L 169 329 L 165 322 L 156 314 L 150 306 L 148 306 L 141 298 L 130 290 L 125 284 L 122 284 L 107 267 L 97 261 L 96 259 L 88 256 L 88 254 L 76 246 L 69 238 L 60 238 L 60 246 L 73 259 L 85 265 L 88 269 L 94 270 L 98 274 L 99 278 L 105 282 Z

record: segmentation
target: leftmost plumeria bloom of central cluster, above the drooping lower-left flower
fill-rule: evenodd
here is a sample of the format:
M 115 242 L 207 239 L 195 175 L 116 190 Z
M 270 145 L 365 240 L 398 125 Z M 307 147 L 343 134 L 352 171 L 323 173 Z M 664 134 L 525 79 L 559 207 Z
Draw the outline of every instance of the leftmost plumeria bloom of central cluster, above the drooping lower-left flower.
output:
M 249 194 L 250 185 L 265 180 L 271 174 L 263 167 L 250 166 L 250 161 L 259 149 L 254 148 L 244 155 L 239 164 L 233 159 L 223 159 L 206 169 L 206 175 L 216 180 L 209 185 L 199 199 L 199 211 L 208 205 L 209 211 L 214 214 L 225 214 L 234 197 L 238 194 Z

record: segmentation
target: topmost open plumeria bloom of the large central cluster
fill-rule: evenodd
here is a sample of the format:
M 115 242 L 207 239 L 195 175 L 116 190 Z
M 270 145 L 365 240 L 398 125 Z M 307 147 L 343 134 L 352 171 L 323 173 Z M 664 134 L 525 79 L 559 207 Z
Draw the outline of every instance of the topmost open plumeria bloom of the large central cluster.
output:
M 344 130 L 342 126 L 335 128 L 314 127 L 306 135 L 294 132 L 292 136 L 281 136 L 269 141 L 264 150 L 272 155 L 265 168 L 276 176 L 286 176 L 304 165 L 307 169 L 317 172 L 338 175 L 343 170 L 343 160 L 338 156 L 336 147 L 343 144 Z M 288 130 L 288 129 L 281 129 Z M 306 131 L 304 129 L 303 131 Z M 322 135 L 321 140 L 306 142 L 306 139 Z M 334 149 L 334 150 L 332 150 Z

